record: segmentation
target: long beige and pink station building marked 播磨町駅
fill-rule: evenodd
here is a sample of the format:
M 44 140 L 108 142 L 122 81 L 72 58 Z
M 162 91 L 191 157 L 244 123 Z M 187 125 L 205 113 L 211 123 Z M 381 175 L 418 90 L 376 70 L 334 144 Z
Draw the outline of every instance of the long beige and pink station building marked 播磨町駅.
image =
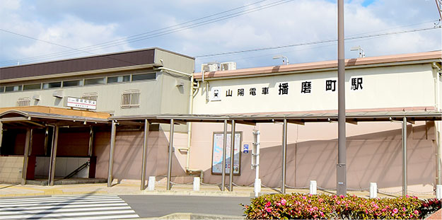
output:
M 441 60 L 440 50 L 346 60 L 349 189 L 400 191 L 404 168 L 408 192 L 441 184 Z M 1 68 L 0 181 L 220 184 L 228 122 L 233 183 L 254 183 L 259 131 L 262 185 L 336 187 L 336 61 L 194 69 L 160 48 Z

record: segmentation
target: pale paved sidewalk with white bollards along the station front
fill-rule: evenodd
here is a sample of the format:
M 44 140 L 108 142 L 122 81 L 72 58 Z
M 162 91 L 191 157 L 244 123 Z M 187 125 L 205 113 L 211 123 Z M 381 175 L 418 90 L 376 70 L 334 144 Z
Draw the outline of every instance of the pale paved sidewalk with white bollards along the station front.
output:
M 107 187 L 106 183 L 91 183 L 78 185 L 9 185 L 0 184 L 0 197 L 33 197 L 33 196 L 49 196 L 49 195 L 207 195 L 207 196 L 226 196 L 226 197 L 254 197 L 253 187 L 235 186 L 233 192 L 227 189 L 221 192 L 219 185 L 200 185 L 199 191 L 193 191 L 192 185 L 173 185 L 171 190 L 165 190 L 165 183 L 156 183 L 155 190 L 140 190 L 139 181 L 123 180 L 120 183 L 115 183 L 112 187 Z M 262 194 L 279 193 L 278 189 L 269 189 L 262 187 Z M 301 192 L 308 193 L 307 189 L 286 189 L 286 193 Z M 318 193 L 331 193 L 334 190 L 318 190 Z M 350 195 L 357 195 L 360 197 L 368 197 L 368 191 L 349 191 Z M 401 194 L 386 195 L 378 193 L 378 197 L 399 197 Z M 432 198 L 434 195 L 411 193 L 417 197 Z

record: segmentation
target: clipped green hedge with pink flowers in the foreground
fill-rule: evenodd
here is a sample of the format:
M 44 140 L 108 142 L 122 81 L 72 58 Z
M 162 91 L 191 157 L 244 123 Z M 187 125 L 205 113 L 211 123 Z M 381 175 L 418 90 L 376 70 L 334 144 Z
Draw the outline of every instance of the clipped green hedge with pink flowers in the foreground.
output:
M 424 219 L 441 209 L 441 200 L 294 193 L 262 195 L 243 207 L 247 219 Z

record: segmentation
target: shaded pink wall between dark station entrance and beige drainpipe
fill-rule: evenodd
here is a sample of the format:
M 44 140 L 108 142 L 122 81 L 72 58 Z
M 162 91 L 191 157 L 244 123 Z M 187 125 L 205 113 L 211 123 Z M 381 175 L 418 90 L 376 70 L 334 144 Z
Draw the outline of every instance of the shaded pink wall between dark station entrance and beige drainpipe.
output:
M 178 135 L 179 136 L 179 135 Z M 175 139 L 180 146 L 180 139 Z M 141 161 L 143 154 L 143 131 L 118 131 L 115 139 L 114 178 L 141 179 Z M 167 173 L 168 139 L 163 131 L 149 132 L 146 176 L 164 176 Z M 175 144 L 175 154 L 178 147 Z M 110 132 L 95 134 L 93 155 L 97 156 L 96 178 L 107 178 L 110 151 Z M 173 157 L 172 175 L 185 175 L 182 165 L 176 156 Z

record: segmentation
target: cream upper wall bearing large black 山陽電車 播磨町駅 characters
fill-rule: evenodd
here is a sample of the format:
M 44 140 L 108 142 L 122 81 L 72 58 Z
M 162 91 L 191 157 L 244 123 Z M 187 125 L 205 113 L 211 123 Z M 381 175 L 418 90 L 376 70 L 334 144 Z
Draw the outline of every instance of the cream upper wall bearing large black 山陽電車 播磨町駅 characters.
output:
M 306 74 L 275 74 L 274 76 L 243 79 L 209 79 L 211 88 L 221 88 L 221 101 L 206 102 L 206 83 L 194 98 L 195 114 L 305 112 L 337 109 L 336 91 L 325 91 L 326 80 L 337 80 L 336 71 L 317 71 Z M 351 79 L 363 79 L 361 90 L 351 90 Z M 311 93 L 301 93 L 302 82 L 311 82 Z M 435 107 L 435 83 L 431 64 L 382 66 L 346 70 L 346 108 L 407 108 Z M 289 83 L 289 94 L 279 95 L 279 83 Z M 337 86 L 337 84 L 336 84 Z M 269 94 L 262 95 L 262 88 Z M 238 96 L 244 88 L 245 95 Z M 257 95 L 250 95 L 256 88 Z M 226 97 L 226 91 L 233 91 Z

